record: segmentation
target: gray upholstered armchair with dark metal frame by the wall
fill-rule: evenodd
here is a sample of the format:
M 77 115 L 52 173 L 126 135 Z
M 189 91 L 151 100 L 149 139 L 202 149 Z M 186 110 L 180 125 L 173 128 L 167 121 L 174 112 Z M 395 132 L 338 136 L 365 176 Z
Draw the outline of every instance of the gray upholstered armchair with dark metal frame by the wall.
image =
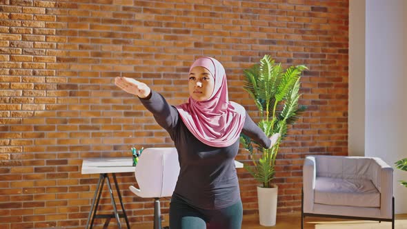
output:
M 393 168 L 377 157 L 306 157 L 301 228 L 307 216 L 391 221 L 394 229 Z

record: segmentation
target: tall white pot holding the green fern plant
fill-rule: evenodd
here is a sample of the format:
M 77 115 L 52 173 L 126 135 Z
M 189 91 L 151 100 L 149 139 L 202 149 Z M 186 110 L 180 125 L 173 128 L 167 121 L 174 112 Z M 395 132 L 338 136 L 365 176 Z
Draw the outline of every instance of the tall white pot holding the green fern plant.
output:
M 257 186 L 257 201 L 259 203 L 259 221 L 261 226 L 275 226 L 277 216 L 278 187 L 261 188 Z

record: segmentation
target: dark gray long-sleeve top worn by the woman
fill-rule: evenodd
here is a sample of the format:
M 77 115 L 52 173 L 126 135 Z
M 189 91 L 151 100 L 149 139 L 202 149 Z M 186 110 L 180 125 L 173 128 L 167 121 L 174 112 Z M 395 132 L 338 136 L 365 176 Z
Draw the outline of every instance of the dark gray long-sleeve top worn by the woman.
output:
M 235 157 L 239 151 L 239 140 L 224 148 L 208 146 L 192 135 L 177 108 L 170 106 L 161 94 L 152 91 L 140 101 L 152 112 L 159 126 L 167 130 L 177 148 L 181 170 L 175 195 L 202 209 L 226 208 L 237 203 L 240 191 Z M 241 131 L 265 148 L 271 144 L 247 113 Z

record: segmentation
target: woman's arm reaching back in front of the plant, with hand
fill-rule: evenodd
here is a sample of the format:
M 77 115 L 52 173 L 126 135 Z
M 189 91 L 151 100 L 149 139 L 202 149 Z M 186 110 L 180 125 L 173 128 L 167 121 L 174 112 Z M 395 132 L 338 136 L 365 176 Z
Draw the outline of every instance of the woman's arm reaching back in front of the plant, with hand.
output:
M 250 137 L 250 139 L 255 140 L 264 148 L 271 148 L 272 146 L 274 146 L 274 144 L 277 143 L 280 137 L 280 134 L 277 133 L 268 138 L 266 134 L 264 134 L 263 130 L 261 130 L 259 126 L 257 126 L 256 123 L 250 118 L 247 112 L 244 126 L 241 132 Z

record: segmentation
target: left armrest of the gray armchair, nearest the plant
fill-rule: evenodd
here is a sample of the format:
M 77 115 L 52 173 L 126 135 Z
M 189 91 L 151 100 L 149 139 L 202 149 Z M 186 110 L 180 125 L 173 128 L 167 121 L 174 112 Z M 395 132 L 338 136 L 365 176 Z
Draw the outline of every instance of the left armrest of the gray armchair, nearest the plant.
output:
M 312 212 L 312 209 L 314 208 L 315 179 L 317 178 L 315 157 L 307 156 L 304 159 L 302 178 L 302 186 L 304 192 L 304 212 Z

